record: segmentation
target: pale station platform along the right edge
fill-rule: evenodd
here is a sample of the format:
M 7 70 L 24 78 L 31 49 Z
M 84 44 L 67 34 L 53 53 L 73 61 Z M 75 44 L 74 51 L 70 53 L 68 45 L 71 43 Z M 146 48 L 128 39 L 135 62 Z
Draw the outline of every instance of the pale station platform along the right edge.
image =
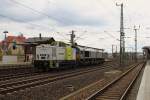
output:
M 136 100 L 150 100 L 150 60 L 146 63 Z

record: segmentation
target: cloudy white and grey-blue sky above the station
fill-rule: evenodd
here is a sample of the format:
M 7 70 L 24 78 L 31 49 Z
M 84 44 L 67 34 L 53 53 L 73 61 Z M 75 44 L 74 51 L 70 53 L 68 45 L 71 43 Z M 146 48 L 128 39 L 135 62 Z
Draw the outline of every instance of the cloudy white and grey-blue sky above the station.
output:
M 126 37 L 131 37 L 126 38 L 126 47 L 134 47 L 133 26 L 140 25 L 141 51 L 150 45 L 149 0 L 0 0 L 0 40 L 7 30 L 8 35 L 34 37 L 42 33 L 68 42 L 68 34 L 75 30 L 78 44 L 109 52 L 114 44 L 119 50 L 120 7 L 116 2 L 124 2 L 124 27 L 130 28 L 125 29 Z

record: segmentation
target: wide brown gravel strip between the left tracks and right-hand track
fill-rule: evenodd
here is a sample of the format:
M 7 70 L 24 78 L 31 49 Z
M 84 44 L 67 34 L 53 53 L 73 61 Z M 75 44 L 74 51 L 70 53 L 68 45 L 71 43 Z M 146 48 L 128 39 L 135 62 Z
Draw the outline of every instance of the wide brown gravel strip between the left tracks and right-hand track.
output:
M 105 72 L 112 70 L 116 71 L 117 69 L 117 66 L 114 66 L 109 69 L 62 79 L 42 86 L 36 86 L 30 89 L 13 92 L 5 96 L 0 96 L 0 100 L 58 100 L 63 96 L 103 79 Z

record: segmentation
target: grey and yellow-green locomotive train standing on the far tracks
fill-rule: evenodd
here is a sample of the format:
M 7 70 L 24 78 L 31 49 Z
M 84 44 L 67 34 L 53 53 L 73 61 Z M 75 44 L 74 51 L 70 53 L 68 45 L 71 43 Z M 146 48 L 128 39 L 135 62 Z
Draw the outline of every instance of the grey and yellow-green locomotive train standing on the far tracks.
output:
M 36 46 L 34 66 L 39 69 L 76 67 L 104 62 L 103 49 L 74 46 L 63 42 Z

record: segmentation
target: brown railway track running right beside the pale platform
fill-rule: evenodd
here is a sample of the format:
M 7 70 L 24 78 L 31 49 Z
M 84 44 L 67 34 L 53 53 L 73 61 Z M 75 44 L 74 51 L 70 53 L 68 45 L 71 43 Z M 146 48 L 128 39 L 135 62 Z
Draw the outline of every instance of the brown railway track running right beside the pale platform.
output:
M 131 68 L 86 100 L 124 100 L 142 68 L 143 64 Z

